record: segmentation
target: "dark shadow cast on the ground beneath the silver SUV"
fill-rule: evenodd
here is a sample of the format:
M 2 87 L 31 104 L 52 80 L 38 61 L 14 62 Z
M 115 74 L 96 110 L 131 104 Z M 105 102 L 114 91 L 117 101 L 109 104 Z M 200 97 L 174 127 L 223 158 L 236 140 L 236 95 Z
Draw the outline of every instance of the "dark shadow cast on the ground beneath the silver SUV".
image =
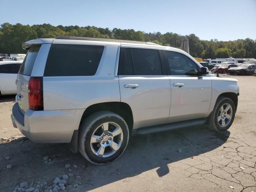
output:
M 49 179 L 52 183 L 58 174 L 72 173 L 74 175 L 68 181 L 70 189 L 80 182 L 79 188 L 88 191 L 152 169 L 156 169 L 158 177 L 162 177 L 175 174 L 168 164 L 185 159 L 193 161 L 192 157 L 218 148 L 229 136 L 229 131 L 216 134 L 204 127 L 134 136 L 118 160 L 101 166 L 87 162 L 80 154 L 72 154 L 66 144 L 35 144 L 14 140 L 9 144 L 0 144 L 2 157 L 12 157 L 9 161 L 0 158 L 0 162 L 3 162 L 0 164 L 0 183 L 10 190 L 13 186 L 10 180 L 19 183 L 31 178 L 36 181 Z M 46 155 L 51 158 L 48 164 L 43 162 Z M 6 170 L 8 163 L 13 164 L 12 170 Z M 64 168 L 66 164 L 71 164 L 72 171 Z M 72 164 L 78 165 L 78 168 Z M 77 179 L 76 176 L 81 177 Z

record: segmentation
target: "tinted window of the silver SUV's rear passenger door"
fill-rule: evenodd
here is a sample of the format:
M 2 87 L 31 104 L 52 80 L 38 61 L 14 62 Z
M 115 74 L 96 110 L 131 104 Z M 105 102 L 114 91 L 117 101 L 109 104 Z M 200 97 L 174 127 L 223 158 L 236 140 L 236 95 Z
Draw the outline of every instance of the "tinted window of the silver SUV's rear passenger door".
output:
M 162 75 L 158 50 L 121 48 L 118 75 Z

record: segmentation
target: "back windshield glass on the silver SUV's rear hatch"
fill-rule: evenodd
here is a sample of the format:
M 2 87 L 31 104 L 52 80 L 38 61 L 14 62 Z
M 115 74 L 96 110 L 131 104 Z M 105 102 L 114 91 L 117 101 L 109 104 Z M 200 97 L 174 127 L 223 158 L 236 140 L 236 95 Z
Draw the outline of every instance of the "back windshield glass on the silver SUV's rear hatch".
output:
M 22 62 L 19 74 L 31 76 L 36 56 L 38 54 L 40 47 L 41 45 L 35 45 L 30 47 L 25 59 Z

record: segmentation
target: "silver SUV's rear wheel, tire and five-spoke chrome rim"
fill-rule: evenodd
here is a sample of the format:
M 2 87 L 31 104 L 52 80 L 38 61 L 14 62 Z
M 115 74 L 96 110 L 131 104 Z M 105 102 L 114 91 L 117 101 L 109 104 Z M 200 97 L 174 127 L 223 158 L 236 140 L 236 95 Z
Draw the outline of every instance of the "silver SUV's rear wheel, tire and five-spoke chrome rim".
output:
M 107 164 L 122 155 L 129 140 L 125 120 L 116 113 L 100 111 L 79 127 L 78 149 L 93 164 Z

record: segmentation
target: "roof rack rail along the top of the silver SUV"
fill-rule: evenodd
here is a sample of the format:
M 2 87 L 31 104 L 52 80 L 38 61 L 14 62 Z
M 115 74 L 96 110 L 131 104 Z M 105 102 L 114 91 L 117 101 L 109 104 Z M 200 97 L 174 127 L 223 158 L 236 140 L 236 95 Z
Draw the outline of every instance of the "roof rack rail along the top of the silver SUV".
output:
M 150 44 L 158 45 L 152 42 L 130 41 L 130 40 L 118 40 L 118 39 L 103 39 L 103 38 L 91 38 L 91 37 L 74 37 L 74 36 L 58 36 L 55 39 L 68 39 L 68 40 L 86 40 L 86 41 L 106 41 L 106 42 L 124 42 L 124 43 L 137 43 L 137 44 Z

